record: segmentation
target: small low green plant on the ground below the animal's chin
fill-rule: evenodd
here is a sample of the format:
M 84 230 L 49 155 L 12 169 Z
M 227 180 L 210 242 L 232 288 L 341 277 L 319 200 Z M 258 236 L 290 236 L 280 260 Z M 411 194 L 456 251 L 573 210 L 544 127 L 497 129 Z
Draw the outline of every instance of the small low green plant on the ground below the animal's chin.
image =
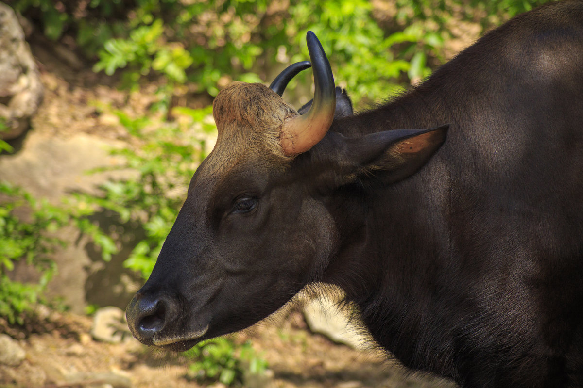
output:
M 224 337 L 204 341 L 185 354 L 194 359 L 187 379 L 200 383 L 219 380 L 231 386 L 243 383 L 246 374 L 261 375 L 267 369 L 267 362 L 255 352 L 250 342 L 237 347 Z

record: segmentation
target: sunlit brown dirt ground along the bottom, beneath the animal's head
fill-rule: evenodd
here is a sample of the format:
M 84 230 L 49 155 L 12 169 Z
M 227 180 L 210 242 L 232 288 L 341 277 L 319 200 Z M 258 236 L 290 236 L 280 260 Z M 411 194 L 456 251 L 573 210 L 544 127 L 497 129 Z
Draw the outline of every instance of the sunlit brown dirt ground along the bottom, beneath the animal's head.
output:
M 46 332 L 19 340 L 26 358 L 19 366 L 0 366 L 1 388 L 223 388 L 188 381 L 189 362 L 183 356 L 153 352 L 134 339 L 118 344 L 93 340 L 88 316 L 53 313 L 50 321 Z M 408 375 L 378 351 L 353 350 L 312 334 L 297 311 L 236 334 L 236 341 L 245 340 L 269 363 L 263 381 L 250 388 L 452 387 L 429 376 Z

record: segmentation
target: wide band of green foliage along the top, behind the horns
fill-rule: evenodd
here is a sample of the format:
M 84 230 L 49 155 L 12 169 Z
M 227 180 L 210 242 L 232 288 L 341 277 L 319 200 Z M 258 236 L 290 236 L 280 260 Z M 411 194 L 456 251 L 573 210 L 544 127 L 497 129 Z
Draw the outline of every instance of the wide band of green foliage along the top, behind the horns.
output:
M 55 7 L 52 0 L 16 0 L 15 8 L 37 15 L 51 39 L 75 36 L 87 54 L 99 57 L 95 71 L 120 71 L 130 87 L 161 76 L 170 94 L 184 83 L 216 95 L 230 80 L 268 82 L 276 62 L 308 58 L 305 33 L 313 30 L 336 80 L 359 102 L 385 98 L 429 75 L 445 59 L 444 41 L 454 36 L 456 21 L 487 29 L 544 2 L 92 0 Z M 309 82 L 308 73 L 300 80 Z

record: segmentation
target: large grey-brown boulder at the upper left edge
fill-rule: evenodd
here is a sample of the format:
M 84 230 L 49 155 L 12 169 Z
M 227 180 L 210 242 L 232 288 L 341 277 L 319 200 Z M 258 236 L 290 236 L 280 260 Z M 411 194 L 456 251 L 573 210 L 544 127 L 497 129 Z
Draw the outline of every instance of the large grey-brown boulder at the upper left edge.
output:
M 20 136 L 43 100 L 43 84 L 16 14 L 0 3 L 0 139 Z

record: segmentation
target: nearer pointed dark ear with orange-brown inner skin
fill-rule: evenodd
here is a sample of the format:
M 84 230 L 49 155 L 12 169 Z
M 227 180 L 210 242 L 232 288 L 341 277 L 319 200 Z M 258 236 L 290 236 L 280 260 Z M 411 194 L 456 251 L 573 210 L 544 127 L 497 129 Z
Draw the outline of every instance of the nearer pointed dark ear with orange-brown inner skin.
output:
M 422 168 L 445 141 L 449 125 L 433 129 L 401 129 L 347 138 L 352 175 L 379 176 L 393 183 Z

